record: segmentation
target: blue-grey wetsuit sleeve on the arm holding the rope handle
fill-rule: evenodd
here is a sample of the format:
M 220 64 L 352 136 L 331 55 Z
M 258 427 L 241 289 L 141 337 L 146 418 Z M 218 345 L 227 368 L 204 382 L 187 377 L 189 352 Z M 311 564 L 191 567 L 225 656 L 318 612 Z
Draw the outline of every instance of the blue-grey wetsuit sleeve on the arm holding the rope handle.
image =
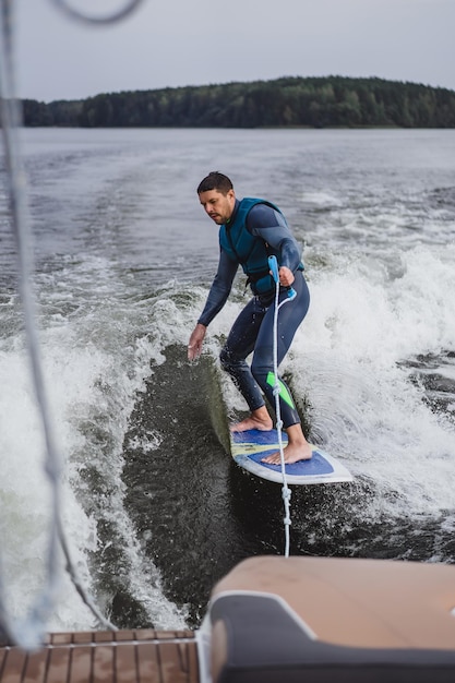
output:
M 250 232 L 263 239 L 280 253 L 280 266 L 292 273 L 301 266 L 300 248 L 289 229 L 286 219 L 278 211 L 267 204 L 256 204 L 248 214 L 247 227 Z

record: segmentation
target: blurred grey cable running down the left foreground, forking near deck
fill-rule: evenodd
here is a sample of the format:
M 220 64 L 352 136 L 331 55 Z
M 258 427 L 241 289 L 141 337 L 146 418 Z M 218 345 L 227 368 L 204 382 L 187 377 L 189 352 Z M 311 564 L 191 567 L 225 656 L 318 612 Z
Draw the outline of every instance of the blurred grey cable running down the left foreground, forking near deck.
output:
M 31 362 L 33 385 L 41 420 L 46 444 L 45 474 L 50 483 L 51 519 L 46 558 L 46 577 L 39 596 L 24 620 L 14 621 L 7 609 L 5 587 L 0 572 L 0 631 L 8 638 L 26 650 L 43 644 L 45 623 L 51 613 L 59 588 L 59 551 L 63 551 L 67 571 L 86 606 L 99 624 L 117 631 L 96 608 L 77 578 L 70 556 L 61 518 L 60 477 L 62 464 L 58 453 L 51 420 L 49 417 L 47 392 L 39 352 L 38 333 L 35 323 L 35 301 L 32 291 L 33 257 L 31 249 L 29 217 L 26 201 L 26 177 L 22 165 L 19 128 L 22 123 L 21 104 L 16 96 L 15 68 L 13 59 L 12 4 L 13 0 L 0 0 L 0 121 L 3 135 L 4 163 L 7 169 L 8 194 L 12 229 L 17 253 L 19 290 L 22 300 L 25 337 Z

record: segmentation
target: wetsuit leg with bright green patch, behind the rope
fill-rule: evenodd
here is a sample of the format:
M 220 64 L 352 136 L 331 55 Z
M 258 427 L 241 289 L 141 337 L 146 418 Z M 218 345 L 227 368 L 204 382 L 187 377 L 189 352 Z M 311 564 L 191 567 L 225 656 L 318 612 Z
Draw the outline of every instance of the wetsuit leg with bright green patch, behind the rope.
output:
M 296 275 L 294 288 L 297 296 L 292 301 L 282 305 L 278 311 L 278 346 L 277 360 L 278 366 L 286 356 L 297 328 L 307 315 L 310 304 L 310 293 L 307 283 L 301 273 Z M 286 299 L 287 291 L 280 293 L 279 300 Z M 259 332 L 254 346 L 254 356 L 251 363 L 251 372 L 267 396 L 271 405 L 275 407 L 274 387 L 276 384 L 273 367 L 273 326 L 274 326 L 274 308 L 272 304 L 263 317 L 261 329 Z M 285 382 L 278 378 L 279 384 L 279 408 L 284 427 L 290 427 L 300 422 L 292 396 Z

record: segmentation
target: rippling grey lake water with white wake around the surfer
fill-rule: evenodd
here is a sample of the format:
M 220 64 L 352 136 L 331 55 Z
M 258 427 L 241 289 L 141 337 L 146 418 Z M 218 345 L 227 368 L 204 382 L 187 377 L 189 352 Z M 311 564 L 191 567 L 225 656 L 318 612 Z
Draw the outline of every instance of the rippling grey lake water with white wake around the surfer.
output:
M 310 440 L 354 483 L 292 490 L 291 554 L 455 561 L 455 131 L 23 131 L 34 286 L 63 518 L 119 626 L 195 626 L 214 582 L 284 549 L 282 491 L 226 451 L 246 410 L 218 350 L 239 275 L 190 366 L 214 275 L 211 170 L 280 206 L 310 312 L 283 364 Z M 43 436 L 0 187 L 0 542 L 9 607 L 40 588 Z M 50 630 L 94 626 L 62 571 Z

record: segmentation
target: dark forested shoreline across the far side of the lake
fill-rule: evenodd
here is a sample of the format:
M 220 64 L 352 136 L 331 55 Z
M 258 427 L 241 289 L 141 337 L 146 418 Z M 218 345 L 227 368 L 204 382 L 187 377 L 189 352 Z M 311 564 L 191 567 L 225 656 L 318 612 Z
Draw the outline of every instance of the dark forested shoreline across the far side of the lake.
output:
M 23 100 L 26 127 L 455 128 L 455 91 L 382 79 L 272 81 Z

